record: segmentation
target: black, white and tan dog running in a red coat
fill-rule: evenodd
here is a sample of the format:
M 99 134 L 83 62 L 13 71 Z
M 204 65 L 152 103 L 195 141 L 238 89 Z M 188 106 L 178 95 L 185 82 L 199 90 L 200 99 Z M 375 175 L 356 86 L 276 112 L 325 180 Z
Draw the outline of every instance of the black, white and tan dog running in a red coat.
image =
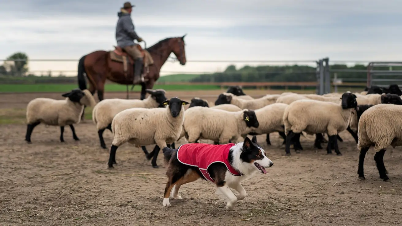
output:
M 163 205 L 169 207 L 169 195 L 173 189 L 173 198 L 181 199 L 178 189 L 181 185 L 199 178 L 214 183 L 227 198 L 227 210 L 232 210 L 238 200 L 246 197 L 246 191 L 240 184 L 256 172 L 266 174 L 266 167 L 273 162 L 265 156 L 265 151 L 248 137 L 237 144 L 213 145 L 206 143 L 187 143 L 178 149 L 165 147 L 164 160 L 167 164 L 166 183 Z M 174 188 L 173 188 L 174 187 Z M 238 192 L 234 195 L 230 188 Z

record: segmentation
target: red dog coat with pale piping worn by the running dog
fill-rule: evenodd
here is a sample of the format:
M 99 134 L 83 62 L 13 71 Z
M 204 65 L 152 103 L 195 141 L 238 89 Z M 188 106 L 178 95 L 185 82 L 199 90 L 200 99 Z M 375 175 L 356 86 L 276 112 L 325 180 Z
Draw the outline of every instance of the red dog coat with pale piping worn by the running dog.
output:
M 178 148 L 177 159 L 185 165 L 198 167 L 205 179 L 211 182 L 215 181 L 209 176 L 208 167 L 214 162 L 222 162 L 231 174 L 240 176 L 240 173 L 230 165 L 228 159 L 230 147 L 234 145 L 234 143 L 222 145 L 187 143 Z

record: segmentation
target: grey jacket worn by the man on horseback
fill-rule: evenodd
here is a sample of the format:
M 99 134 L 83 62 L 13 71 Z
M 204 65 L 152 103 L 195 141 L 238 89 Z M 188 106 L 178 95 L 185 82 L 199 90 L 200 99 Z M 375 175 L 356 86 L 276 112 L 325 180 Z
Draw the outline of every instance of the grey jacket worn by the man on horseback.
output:
M 116 41 L 117 46 L 124 48 L 126 46 L 137 45 L 134 39 L 138 39 L 137 33 L 134 31 L 134 24 L 128 13 L 118 12 L 119 20 L 116 25 Z

